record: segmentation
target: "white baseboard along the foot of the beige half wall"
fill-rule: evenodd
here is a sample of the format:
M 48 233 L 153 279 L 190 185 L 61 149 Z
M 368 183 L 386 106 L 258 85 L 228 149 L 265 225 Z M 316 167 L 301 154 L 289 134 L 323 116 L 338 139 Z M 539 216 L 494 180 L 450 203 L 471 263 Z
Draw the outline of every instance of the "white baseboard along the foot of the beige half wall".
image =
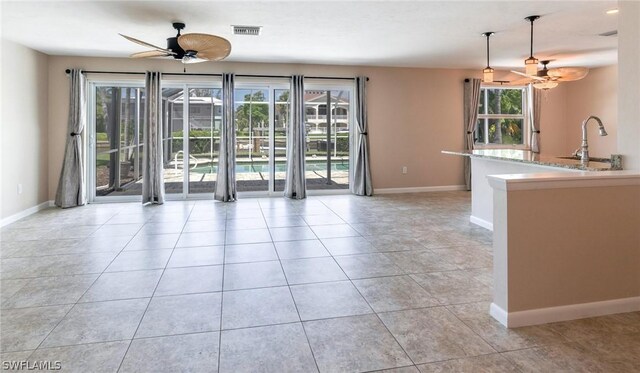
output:
M 624 312 L 640 311 L 640 297 L 612 299 L 600 302 L 570 304 L 567 306 L 539 308 L 535 310 L 506 312 L 491 303 L 489 313 L 508 328 L 547 324 L 558 321 L 584 319 Z

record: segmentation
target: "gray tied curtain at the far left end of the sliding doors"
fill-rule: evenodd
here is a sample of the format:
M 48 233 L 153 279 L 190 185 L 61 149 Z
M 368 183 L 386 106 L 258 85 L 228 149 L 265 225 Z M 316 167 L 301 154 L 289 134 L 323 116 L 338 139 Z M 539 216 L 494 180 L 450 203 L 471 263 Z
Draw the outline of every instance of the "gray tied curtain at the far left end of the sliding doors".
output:
M 86 201 L 82 133 L 86 121 L 86 81 L 80 69 L 71 70 L 69 93 L 69 121 L 64 161 L 56 191 L 56 206 L 82 206 Z

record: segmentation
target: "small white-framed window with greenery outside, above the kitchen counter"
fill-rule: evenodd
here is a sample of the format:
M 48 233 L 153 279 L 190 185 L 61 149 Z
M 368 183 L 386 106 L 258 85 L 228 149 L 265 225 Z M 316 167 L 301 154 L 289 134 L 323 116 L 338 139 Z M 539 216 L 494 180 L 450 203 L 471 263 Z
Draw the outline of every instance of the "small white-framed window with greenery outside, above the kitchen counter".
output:
M 525 116 L 524 87 L 482 87 L 478 105 L 476 145 L 526 144 L 528 123 Z

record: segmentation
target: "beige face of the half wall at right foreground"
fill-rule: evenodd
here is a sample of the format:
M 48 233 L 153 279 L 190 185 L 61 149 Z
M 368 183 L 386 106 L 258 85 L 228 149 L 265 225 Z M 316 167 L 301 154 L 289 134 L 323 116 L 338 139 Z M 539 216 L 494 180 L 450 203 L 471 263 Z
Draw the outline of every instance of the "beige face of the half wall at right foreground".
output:
M 640 296 L 639 186 L 507 198 L 509 312 Z

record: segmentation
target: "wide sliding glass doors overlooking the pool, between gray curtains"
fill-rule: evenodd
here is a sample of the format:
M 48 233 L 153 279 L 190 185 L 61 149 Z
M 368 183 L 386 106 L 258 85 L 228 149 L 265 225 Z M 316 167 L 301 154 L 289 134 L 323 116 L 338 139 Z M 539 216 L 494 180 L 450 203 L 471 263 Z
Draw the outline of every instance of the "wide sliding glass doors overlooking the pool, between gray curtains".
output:
M 305 86 L 307 189 L 347 189 L 353 88 Z M 233 109 L 239 193 L 280 195 L 284 191 L 289 94 L 289 82 L 284 79 L 236 81 Z M 135 200 L 142 194 L 143 82 L 92 81 L 90 95 L 90 200 Z M 213 195 L 221 124 L 220 82 L 163 82 L 162 161 L 167 198 Z

